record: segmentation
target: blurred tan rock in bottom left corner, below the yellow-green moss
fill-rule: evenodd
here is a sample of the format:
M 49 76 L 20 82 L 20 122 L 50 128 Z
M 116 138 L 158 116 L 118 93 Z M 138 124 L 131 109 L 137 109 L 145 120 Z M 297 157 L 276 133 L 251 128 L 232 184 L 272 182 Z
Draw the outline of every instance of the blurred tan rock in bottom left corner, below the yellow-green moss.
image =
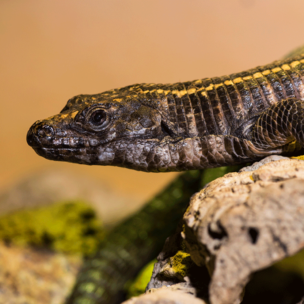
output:
M 74 285 L 81 264 L 81 256 L 0 242 L 0 303 L 62 303 Z

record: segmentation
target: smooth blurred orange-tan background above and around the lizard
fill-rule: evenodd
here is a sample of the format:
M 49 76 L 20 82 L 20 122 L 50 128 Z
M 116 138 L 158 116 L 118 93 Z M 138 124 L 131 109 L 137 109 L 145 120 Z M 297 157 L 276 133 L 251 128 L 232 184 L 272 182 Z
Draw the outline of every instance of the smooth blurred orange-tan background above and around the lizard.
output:
M 145 200 L 176 173 L 38 157 L 26 132 L 77 94 L 220 76 L 304 44 L 303 1 L 0 1 L 0 188 L 61 168 Z

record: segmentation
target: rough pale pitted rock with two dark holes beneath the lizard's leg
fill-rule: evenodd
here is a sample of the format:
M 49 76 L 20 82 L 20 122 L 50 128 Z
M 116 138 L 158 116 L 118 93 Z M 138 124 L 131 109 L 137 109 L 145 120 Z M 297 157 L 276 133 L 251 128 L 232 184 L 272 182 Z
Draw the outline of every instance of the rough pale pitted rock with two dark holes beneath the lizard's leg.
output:
M 240 303 L 252 273 L 304 247 L 303 184 L 304 162 L 280 160 L 226 174 L 192 198 L 183 235 L 209 269 L 212 304 Z

